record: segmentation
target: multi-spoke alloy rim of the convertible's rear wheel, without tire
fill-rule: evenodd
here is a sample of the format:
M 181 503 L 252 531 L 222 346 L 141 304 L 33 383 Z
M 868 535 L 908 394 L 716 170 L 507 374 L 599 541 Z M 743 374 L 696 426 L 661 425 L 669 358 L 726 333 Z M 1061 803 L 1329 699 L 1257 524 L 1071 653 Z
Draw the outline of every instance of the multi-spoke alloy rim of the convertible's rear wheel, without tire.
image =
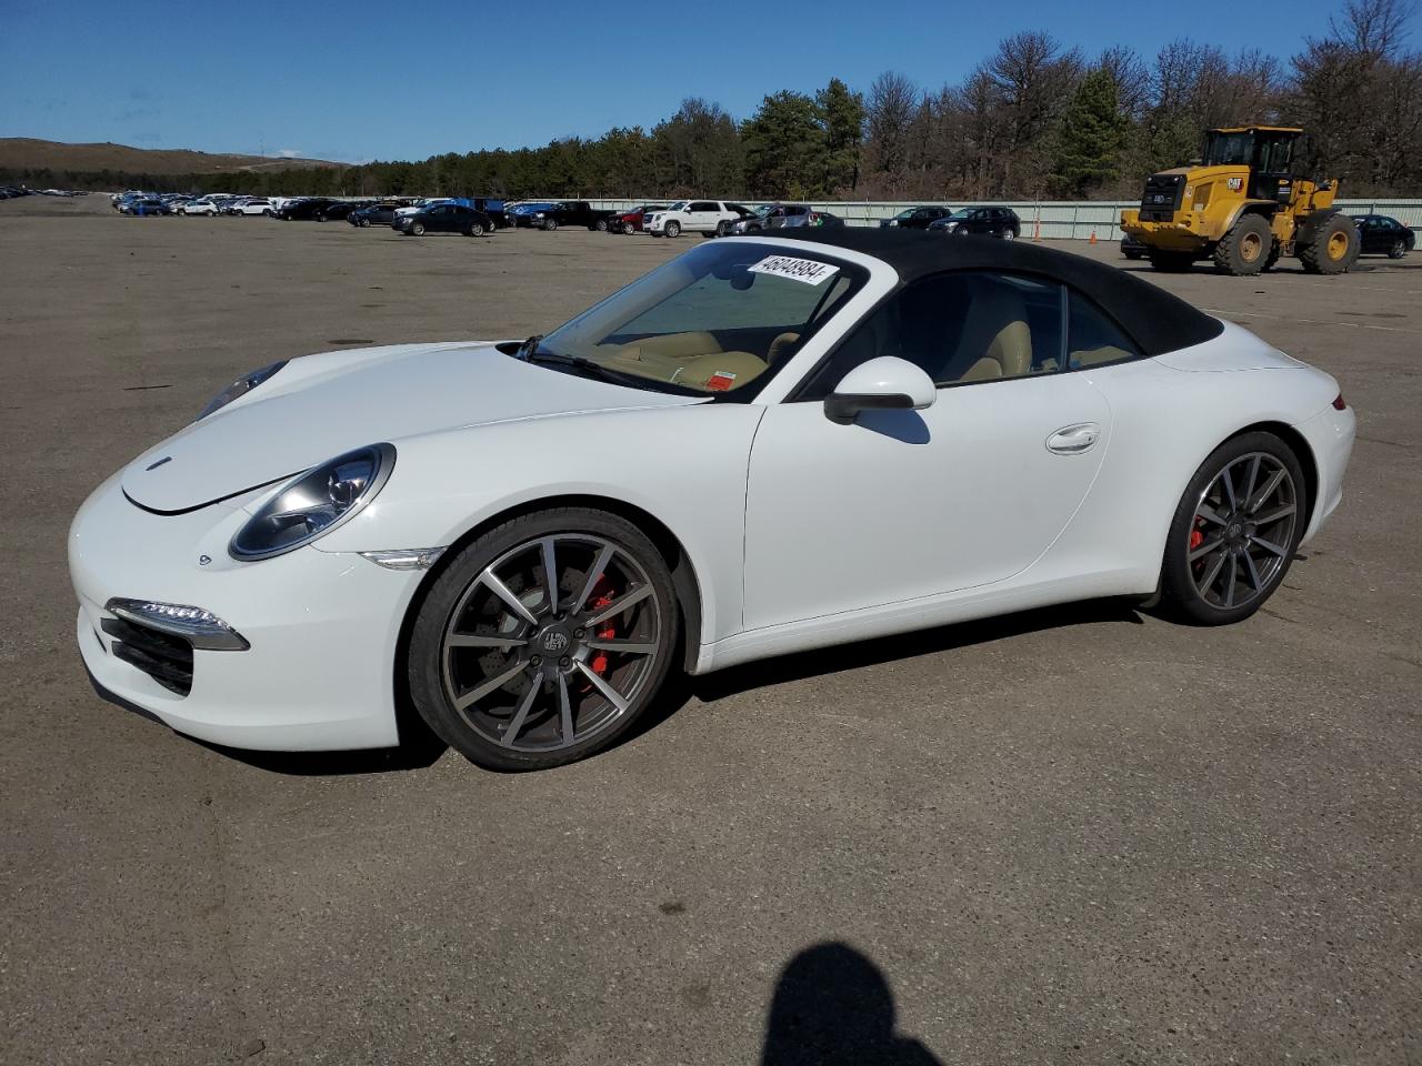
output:
M 1278 458 L 1231 459 L 1200 495 L 1186 563 L 1200 600 L 1219 610 L 1264 596 L 1288 560 L 1298 517 L 1294 479 Z

